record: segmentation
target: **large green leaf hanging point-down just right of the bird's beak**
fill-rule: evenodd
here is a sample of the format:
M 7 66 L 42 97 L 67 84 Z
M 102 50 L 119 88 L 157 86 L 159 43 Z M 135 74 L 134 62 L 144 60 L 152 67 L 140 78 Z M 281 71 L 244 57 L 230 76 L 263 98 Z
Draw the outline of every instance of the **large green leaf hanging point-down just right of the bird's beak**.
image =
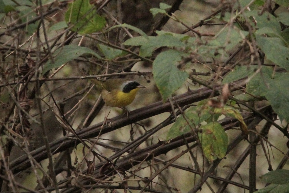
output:
M 184 52 L 167 50 L 161 52 L 153 62 L 153 76 L 163 101 L 175 92 L 188 78 L 188 73 L 180 71 L 176 63 L 185 56 Z

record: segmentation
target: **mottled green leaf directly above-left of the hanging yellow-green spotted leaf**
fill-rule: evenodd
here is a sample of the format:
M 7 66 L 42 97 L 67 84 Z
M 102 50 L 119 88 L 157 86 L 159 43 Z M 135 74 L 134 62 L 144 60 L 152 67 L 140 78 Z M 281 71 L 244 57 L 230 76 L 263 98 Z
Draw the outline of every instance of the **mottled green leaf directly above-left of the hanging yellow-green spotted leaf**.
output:
M 199 107 L 191 107 L 184 113 L 185 117 L 178 117 L 173 126 L 168 130 L 167 140 L 191 132 L 201 122 L 212 116 L 209 111 L 200 111 L 200 109 Z

